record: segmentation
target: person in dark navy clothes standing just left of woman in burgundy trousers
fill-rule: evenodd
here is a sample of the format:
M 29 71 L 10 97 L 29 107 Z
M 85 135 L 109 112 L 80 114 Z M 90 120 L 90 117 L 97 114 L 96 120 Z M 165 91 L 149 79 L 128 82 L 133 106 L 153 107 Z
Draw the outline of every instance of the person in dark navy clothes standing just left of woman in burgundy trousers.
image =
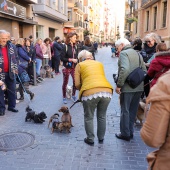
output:
M 54 64 L 54 70 L 56 75 L 60 74 L 59 66 L 60 66 L 60 57 L 61 57 L 62 49 L 63 48 L 62 48 L 60 37 L 55 37 L 53 42 L 53 51 L 54 51 L 53 64 Z

